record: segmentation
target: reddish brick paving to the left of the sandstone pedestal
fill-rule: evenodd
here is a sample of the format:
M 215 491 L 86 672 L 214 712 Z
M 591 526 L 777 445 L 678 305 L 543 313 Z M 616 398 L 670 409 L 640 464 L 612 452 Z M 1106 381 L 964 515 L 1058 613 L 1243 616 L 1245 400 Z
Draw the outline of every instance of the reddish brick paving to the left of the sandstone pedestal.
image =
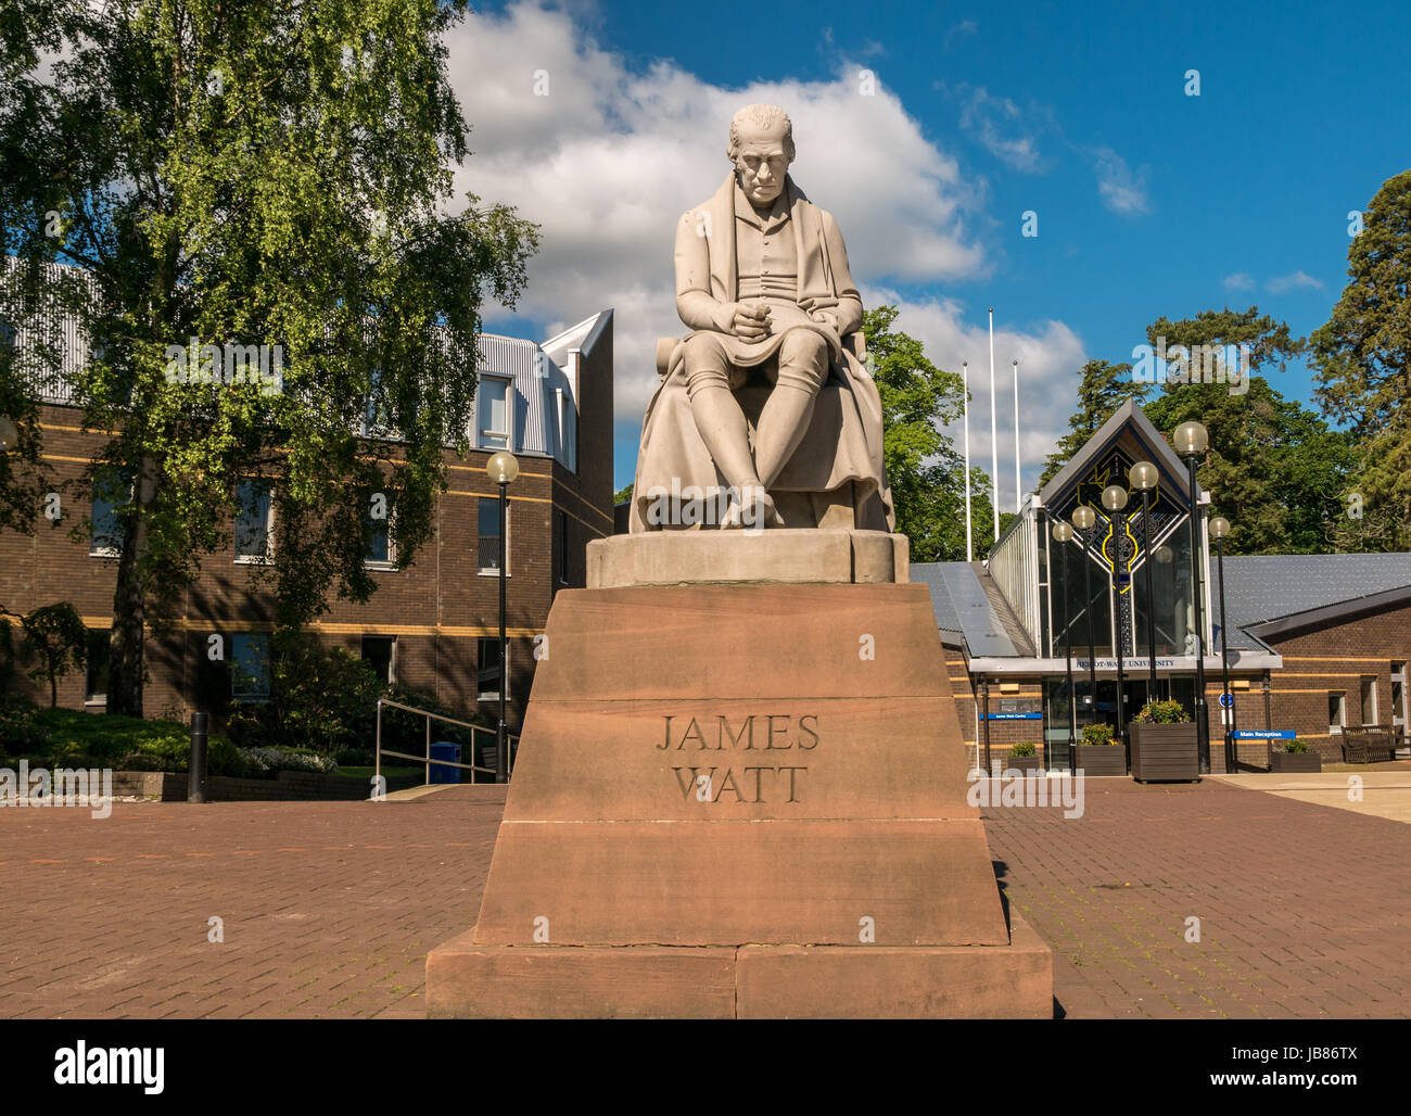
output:
M 422 1016 L 428 950 L 480 910 L 487 793 L 0 810 L 0 1017 Z

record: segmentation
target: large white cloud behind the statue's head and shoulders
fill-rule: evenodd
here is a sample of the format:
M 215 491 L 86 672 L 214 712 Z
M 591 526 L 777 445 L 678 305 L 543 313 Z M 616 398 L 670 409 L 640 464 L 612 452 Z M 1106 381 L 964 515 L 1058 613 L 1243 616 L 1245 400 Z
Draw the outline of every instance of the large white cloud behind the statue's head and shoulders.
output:
M 601 49 L 573 17 L 533 3 L 473 13 L 447 37 L 450 79 L 476 152 L 457 190 L 504 200 L 543 226 L 519 312 L 576 322 L 615 308 L 617 415 L 641 420 L 660 336 L 676 316 L 672 240 L 680 214 L 729 171 L 731 116 L 751 102 L 793 119 L 793 174 L 834 213 L 862 282 L 985 274 L 967 219 L 976 189 L 885 86 L 859 96 L 858 63 L 831 82 L 724 89 L 673 62 L 645 73 Z M 547 96 L 535 96 L 536 72 Z M 871 305 L 871 303 L 869 303 Z

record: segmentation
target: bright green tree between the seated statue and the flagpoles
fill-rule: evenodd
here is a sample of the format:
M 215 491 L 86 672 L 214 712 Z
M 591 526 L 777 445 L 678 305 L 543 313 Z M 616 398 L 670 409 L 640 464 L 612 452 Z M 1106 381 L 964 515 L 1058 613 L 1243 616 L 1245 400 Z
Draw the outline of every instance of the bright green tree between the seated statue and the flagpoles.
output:
M 964 381 L 927 360 L 914 337 L 893 330 L 896 306 L 868 310 L 862 332 L 882 396 L 883 459 L 896 529 L 910 538 L 913 562 L 965 557 L 965 461 L 944 426 L 961 418 Z M 971 470 L 976 556 L 991 540 L 989 478 Z

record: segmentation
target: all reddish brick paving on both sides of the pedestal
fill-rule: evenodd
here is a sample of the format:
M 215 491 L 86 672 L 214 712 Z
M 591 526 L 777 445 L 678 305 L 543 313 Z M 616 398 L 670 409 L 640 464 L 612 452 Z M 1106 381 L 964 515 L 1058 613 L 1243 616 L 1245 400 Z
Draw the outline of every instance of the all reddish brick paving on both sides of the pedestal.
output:
M 420 1016 L 480 906 L 485 793 L 0 810 L 0 1017 Z M 1085 806 L 983 811 L 1068 1017 L 1411 1014 L 1411 825 L 1213 780 Z

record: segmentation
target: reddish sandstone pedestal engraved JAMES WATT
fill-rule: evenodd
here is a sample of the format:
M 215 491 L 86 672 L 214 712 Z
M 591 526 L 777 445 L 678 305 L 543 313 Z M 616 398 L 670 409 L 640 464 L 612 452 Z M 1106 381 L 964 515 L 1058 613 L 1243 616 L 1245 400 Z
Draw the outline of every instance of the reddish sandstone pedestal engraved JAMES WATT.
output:
M 924 586 L 560 593 L 428 1012 L 1048 1017 L 967 766 Z

